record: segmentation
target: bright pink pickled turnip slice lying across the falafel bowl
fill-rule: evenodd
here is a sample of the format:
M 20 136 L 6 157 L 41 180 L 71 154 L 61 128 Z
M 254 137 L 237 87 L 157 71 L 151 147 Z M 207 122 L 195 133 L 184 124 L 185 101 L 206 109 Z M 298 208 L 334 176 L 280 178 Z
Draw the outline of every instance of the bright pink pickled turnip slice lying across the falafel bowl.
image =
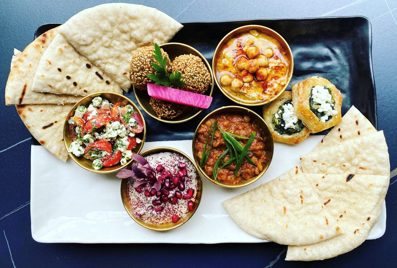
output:
M 170 87 L 163 87 L 154 84 L 147 84 L 147 87 L 149 96 L 157 98 L 159 100 L 185 104 L 188 106 L 203 109 L 210 107 L 210 104 L 212 102 L 211 96 L 183 91 L 179 89 L 173 89 Z

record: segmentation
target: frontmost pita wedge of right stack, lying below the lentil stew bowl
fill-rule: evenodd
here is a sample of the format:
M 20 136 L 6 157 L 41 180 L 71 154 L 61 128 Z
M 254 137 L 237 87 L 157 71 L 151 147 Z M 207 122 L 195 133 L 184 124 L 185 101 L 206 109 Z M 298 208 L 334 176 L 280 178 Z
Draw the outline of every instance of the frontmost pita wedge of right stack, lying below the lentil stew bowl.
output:
M 279 244 L 313 244 L 344 232 L 298 166 L 222 204 L 244 231 Z

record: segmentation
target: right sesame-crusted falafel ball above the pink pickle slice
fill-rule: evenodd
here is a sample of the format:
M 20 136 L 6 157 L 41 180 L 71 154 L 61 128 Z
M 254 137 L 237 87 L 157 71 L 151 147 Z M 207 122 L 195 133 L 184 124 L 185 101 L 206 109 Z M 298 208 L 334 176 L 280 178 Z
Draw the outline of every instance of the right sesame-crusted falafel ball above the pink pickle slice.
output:
M 172 64 L 172 72 L 180 71 L 184 87 L 177 87 L 184 91 L 204 94 L 211 85 L 211 75 L 200 57 L 185 54 L 175 58 Z

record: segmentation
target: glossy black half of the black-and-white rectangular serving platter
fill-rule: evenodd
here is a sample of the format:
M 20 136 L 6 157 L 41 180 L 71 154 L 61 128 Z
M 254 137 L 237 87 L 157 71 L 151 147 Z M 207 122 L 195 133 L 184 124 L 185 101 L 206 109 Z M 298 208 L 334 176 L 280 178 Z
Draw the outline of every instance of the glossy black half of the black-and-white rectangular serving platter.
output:
M 278 32 L 288 42 L 293 52 L 294 71 L 291 85 L 306 77 L 318 75 L 331 81 L 343 95 L 342 115 L 354 105 L 378 129 L 376 91 L 372 71 L 371 23 L 366 17 L 326 17 L 304 19 L 258 19 L 249 21 L 187 22 L 170 42 L 180 42 L 200 51 L 212 62 L 220 40 L 230 31 L 244 25 L 263 25 Z M 35 38 L 60 25 L 50 23 L 40 26 Z M 132 57 L 132 55 L 131 55 Z M 124 93 L 133 100 L 132 90 Z M 237 105 L 214 86 L 210 108 L 190 121 L 168 124 L 146 116 L 146 141 L 192 139 L 198 123 L 216 108 Z M 251 107 L 262 115 L 262 106 Z M 316 133 L 324 135 L 328 131 Z M 32 143 L 39 145 L 32 139 Z

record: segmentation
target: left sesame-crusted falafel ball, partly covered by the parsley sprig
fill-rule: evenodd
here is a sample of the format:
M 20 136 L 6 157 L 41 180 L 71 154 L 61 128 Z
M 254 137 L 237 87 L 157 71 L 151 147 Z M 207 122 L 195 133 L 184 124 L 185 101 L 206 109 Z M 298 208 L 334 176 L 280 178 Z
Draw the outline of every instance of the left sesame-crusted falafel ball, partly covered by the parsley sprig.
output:
M 171 71 L 170 57 L 162 48 L 160 48 L 160 50 L 162 57 L 167 57 L 167 70 Z M 143 46 L 138 48 L 132 56 L 131 65 L 129 67 L 129 79 L 131 80 L 132 85 L 137 89 L 147 90 L 147 83 L 154 84 L 154 81 L 147 77 L 149 74 L 157 73 L 154 71 L 152 64 L 150 64 L 150 62 L 158 64 L 158 61 L 154 59 L 153 54 L 154 46 Z

